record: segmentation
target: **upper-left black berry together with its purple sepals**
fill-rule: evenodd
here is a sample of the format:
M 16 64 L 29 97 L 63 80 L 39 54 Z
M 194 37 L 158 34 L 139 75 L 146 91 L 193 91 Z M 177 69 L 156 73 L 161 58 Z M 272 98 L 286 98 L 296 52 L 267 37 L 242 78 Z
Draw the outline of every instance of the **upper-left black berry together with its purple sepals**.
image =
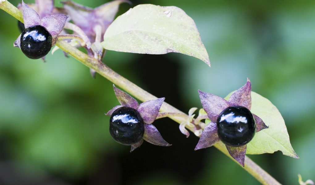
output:
M 23 1 L 22 14 L 25 30 L 14 42 L 14 47 L 19 47 L 30 59 L 43 58 L 55 45 L 68 16 L 57 14 L 41 19 L 39 14 Z

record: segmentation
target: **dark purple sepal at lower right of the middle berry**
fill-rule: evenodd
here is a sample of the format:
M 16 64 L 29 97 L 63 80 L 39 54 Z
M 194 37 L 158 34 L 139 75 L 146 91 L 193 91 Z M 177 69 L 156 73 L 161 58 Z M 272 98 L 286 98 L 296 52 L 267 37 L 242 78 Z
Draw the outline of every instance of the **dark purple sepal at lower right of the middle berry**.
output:
M 172 146 L 163 139 L 160 132 L 158 132 L 157 128 L 152 124 L 144 124 L 143 139 L 158 146 Z

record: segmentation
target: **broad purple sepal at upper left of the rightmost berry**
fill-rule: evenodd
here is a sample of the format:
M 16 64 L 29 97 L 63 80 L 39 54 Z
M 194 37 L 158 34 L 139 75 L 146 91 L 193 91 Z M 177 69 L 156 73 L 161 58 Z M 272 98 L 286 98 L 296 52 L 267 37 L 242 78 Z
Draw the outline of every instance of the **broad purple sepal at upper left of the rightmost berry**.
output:
M 216 122 L 218 115 L 227 107 L 229 107 L 229 104 L 227 101 L 219 96 L 216 96 L 214 94 L 205 93 L 200 90 L 199 97 L 202 104 L 202 107 L 204 111 L 206 111 L 209 119 L 211 121 Z

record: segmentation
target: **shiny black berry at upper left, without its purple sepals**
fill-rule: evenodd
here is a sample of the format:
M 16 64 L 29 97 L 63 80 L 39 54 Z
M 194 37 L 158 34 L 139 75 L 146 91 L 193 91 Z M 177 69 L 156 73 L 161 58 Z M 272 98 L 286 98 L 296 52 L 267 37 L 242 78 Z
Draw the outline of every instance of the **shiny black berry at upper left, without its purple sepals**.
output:
M 52 36 L 41 25 L 26 28 L 21 34 L 21 50 L 30 59 L 39 59 L 51 49 Z

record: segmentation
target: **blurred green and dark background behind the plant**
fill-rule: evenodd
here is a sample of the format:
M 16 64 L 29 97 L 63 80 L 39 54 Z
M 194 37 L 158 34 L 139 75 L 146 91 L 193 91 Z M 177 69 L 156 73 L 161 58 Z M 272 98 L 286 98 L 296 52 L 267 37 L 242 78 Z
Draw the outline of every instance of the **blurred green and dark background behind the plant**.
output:
M 225 97 L 249 77 L 252 90 L 282 113 L 300 159 L 249 157 L 283 184 L 298 184 L 297 174 L 315 180 L 315 1 L 132 2 L 182 8 L 197 24 L 211 68 L 178 53 L 114 51 L 104 59 L 109 67 L 184 112 L 201 108 L 198 89 Z M 0 17 L 0 184 L 259 184 L 217 149 L 193 151 L 198 138 L 186 138 L 169 119 L 155 125 L 172 147 L 145 142 L 130 153 L 108 133 L 104 113 L 118 104 L 112 83 L 92 79 L 60 50 L 46 63 L 26 58 L 13 47 L 17 20 L 2 10 Z

